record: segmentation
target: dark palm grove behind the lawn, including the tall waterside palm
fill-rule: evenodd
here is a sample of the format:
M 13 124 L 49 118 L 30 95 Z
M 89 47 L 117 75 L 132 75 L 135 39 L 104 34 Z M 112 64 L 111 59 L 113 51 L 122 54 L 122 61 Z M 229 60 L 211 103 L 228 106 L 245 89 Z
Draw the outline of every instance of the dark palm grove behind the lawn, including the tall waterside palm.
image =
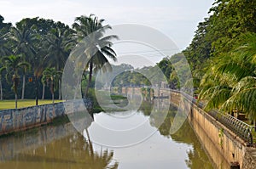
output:
M 54 99 L 55 95 L 61 99 L 61 71 L 70 52 L 84 37 L 98 31 L 101 36 L 96 37 L 97 44 L 90 47 L 98 48 L 98 52 L 88 56 L 90 62 L 84 68 L 84 74 L 88 74 L 84 78 L 90 86 L 92 71 L 108 65 L 108 58 L 116 60 L 111 41 L 117 37 L 104 38 L 104 32 L 111 26 L 103 25 L 103 21 L 90 14 L 77 17 L 72 27 L 38 17 L 12 25 L 5 23 L 0 15 L 1 99 L 49 99 L 51 96 Z M 84 93 L 87 92 L 85 89 Z

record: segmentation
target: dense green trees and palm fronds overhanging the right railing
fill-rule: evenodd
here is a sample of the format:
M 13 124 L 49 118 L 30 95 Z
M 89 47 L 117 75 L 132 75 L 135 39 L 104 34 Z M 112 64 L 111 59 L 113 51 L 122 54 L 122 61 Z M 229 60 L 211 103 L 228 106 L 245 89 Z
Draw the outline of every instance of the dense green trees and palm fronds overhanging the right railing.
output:
M 206 110 L 244 112 L 256 120 L 256 1 L 216 0 L 208 14 L 183 50 L 194 86 Z M 177 80 L 171 59 L 159 66 Z

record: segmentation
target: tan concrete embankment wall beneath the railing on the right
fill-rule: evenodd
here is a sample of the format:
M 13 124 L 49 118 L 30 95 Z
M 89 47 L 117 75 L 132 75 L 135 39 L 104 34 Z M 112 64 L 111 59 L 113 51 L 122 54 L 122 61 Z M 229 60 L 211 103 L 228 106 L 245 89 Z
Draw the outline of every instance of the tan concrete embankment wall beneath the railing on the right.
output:
M 183 109 L 189 112 L 189 122 L 215 168 L 230 168 L 233 162 L 238 162 L 242 169 L 256 168 L 255 159 L 249 151 L 253 148 L 248 148 L 241 138 L 196 104 L 191 104 L 189 99 L 172 93 L 171 100 L 177 102 L 177 97 Z

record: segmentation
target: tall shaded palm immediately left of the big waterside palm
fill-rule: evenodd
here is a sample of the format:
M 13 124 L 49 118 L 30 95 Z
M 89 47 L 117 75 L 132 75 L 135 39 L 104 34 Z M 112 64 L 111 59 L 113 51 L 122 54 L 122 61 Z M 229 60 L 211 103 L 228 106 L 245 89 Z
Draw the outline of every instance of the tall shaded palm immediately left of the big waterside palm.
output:
M 63 25 L 62 25 L 63 26 Z M 67 57 L 74 46 L 72 31 L 66 25 L 53 28 L 46 36 L 48 54 L 44 57 L 50 66 L 61 71 L 66 63 Z M 61 99 L 61 78 L 59 79 L 59 99 Z

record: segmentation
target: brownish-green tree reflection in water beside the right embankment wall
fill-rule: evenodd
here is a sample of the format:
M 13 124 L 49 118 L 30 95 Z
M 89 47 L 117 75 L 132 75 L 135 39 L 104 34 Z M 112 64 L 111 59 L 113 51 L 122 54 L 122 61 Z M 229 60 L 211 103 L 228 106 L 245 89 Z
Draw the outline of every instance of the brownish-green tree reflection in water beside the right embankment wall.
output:
M 164 99 L 159 99 L 157 100 L 157 102 L 160 102 L 160 104 L 164 104 Z M 140 110 L 143 112 L 144 115 L 150 115 L 151 110 L 153 108 L 153 104 L 155 104 L 154 101 L 143 100 L 143 104 L 141 105 Z M 174 104 L 171 104 L 169 112 L 166 115 L 165 121 L 159 127 L 160 134 L 165 136 L 166 138 L 171 138 L 177 143 L 189 144 L 193 147 L 193 149 L 189 149 L 189 151 L 187 151 L 189 159 L 185 160 L 189 168 L 191 169 L 212 168 L 212 164 L 208 160 L 207 154 L 205 153 L 204 149 L 202 149 L 201 143 L 199 142 L 198 138 L 195 136 L 195 132 L 190 127 L 189 121 L 185 121 L 183 123 L 183 126 L 177 132 L 175 132 L 174 134 L 170 134 L 170 129 L 172 127 L 172 122 L 174 120 L 174 116 L 176 115 L 176 112 L 177 112 L 177 106 L 175 106 Z M 154 116 L 150 116 L 150 118 L 154 118 Z M 153 121 L 153 122 L 150 122 L 150 124 L 153 127 L 155 127 L 155 124 L 157 123 L 157 119 L 159 118 L 156 117 L 154 119 L 150 119 L 150 121 Z

